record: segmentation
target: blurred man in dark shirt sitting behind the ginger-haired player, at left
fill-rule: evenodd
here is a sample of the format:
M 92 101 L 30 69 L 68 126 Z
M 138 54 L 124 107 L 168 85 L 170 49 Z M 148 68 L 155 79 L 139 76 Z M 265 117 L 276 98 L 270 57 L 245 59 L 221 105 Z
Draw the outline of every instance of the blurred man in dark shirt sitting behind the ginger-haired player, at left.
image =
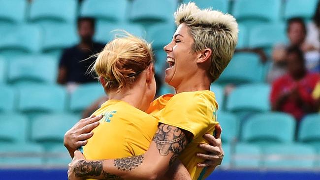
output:
M 59 63 L 58 83 L 66 84 L 69 92 L 79 84 L 96 81 L 92 75 L 86 72 L 95 61 L 95 58 L 90 57 L 100 52 L 104 47 L 104 44 L 93 41 L 95 34 L 95 20 L 93 18 L 80 17 L 77 23 L 81 42 L 65 49 Z

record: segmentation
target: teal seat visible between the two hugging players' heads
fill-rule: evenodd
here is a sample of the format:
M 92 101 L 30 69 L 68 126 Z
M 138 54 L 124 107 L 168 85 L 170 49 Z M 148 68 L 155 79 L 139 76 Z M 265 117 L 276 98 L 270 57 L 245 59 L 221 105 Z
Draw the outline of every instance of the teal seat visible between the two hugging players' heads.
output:
M 167 54 L 163 50 L 163 47 L 171 42 L 175 29 L 176 27 L 173 23 L 161 23 L 148 29 L 147 39 L 149 42 L 152 42 L 152 48 L 155 52 L 157 74 L 164 74 L 167 65 Z

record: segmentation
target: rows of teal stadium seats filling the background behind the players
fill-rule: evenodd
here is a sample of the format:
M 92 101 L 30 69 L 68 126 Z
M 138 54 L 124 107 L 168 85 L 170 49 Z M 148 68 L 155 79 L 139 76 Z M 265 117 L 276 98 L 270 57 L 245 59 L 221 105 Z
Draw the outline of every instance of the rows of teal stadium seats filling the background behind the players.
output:
M 189 0 L 186 0 L 189 1 Z M 287 42 L 286 20 L 311 21 L 318 0 L 194 0 L 235 16 L 237 49 L 271 48 Z M 106 43 L 114 29 L 153 42 L 157 74 L 163 77 L 163 46 L 175 31 L 180 0 L 0 0 L 0 179 L 66 179 L 70 161 L 66 130 L 103 95 L 96 84 L 67 93 L 56 84 L 62 49 L 78 42 L 76 19 L 95 17 L 95 40 Z M 211 86 L 220 105 L 224 161 L 208 179 L 320 178 L 320 115 L 309 115 L 294 140 L 295 120 L 270 111 L 270 85 L 255 53 L 235 53 Z M 236 84 L 228 96 L 224 85 Z M 172 92 L 162 86 L 160 94 Z M 318 122 L 317 122 L 318 121 Z M 317 126 L 318 125 L 318 126 Z

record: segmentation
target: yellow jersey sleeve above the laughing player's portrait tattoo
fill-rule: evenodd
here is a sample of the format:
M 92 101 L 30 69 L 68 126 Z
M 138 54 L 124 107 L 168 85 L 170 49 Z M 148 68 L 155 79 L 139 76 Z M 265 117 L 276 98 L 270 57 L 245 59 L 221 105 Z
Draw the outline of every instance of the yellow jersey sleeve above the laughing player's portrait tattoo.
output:
M 212 130 L 218 105 L 214 97 L 204 93 L 180 93 L 171 98 L 163 109 L 159 122 L 192 133 L 195 139 Z

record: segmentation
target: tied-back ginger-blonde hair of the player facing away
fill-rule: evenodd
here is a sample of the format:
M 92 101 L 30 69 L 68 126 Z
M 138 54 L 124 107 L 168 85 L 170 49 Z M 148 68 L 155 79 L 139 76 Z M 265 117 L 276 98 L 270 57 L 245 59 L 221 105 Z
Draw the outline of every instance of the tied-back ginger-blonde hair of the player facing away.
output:
M 102 52 L 96 54 L 95 64 L 91 71 L 106 81 L 106 91 L 130 86 L 138 75 L 153 62 L 151 45 L 126 31 L 125 35 L 110 41 Z

